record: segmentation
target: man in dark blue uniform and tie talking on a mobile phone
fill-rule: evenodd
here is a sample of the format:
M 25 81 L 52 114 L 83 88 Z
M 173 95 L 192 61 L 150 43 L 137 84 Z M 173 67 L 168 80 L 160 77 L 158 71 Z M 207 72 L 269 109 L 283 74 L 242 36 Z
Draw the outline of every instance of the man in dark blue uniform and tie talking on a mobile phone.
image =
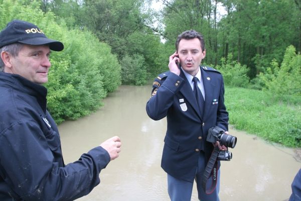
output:
M 146 104 L 147 115 L 153 120 L 167 117 L 161 166 L 168 174 L 169 196 L 172 201 L 191 200 L 195 179 L 200 200 L 219 200 L 219 176 L 211 194 L 206 194 L 201 182 L 214 146 L 226 149 L 218 142 L 206 141 L 209 128 L 228 130 L 223 77 L 213 68 L 200 67 L 206 55 L 200 33 L 180 34 L 176 50 L 169 58 L 169 71 L 155 79 Z

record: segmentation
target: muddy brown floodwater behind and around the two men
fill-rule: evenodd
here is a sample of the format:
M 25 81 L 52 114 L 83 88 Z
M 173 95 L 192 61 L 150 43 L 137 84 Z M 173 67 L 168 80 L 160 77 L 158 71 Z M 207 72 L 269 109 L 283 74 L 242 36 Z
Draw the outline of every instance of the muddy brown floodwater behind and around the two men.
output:
M 96 113 L 59 126 L 66 164 L 112 136 L 121 138 L 119 158 L 101 171 L 101 183 L 78 200 L 170 200 L 167 175 L 160 167 L 166 119 L 153 121 L 146 115 L 150 90 L 149 85 L 120 86 Z M 220 199 L 287 199 L 301 165 L 293 150 L 233 129 L 229 133 L 238 140 L 230 150 L 232 160 L 222 161 Z M 192 200 L 198 200 L 195 187 Z

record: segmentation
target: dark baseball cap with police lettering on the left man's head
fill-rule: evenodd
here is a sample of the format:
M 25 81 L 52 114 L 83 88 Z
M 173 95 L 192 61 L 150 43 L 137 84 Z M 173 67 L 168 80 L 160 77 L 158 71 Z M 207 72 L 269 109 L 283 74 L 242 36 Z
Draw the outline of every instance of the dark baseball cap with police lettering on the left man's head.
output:
M 13 43 L 49 45 L 54 51 L 64 49 L 63 43 L 47 38 L 36 25 L 22 20 L 13 20 L 0 32 L 0 48 Z

